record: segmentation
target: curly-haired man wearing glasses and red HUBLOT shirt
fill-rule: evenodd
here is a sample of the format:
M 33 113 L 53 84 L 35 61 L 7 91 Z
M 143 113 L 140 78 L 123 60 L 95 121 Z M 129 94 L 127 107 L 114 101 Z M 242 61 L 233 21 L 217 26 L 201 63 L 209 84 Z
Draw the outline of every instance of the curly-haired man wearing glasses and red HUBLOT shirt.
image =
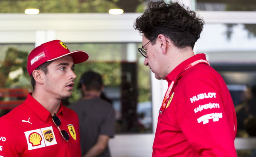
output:
M 178 3 L 150 2 L 134 28 L 155 78 L 168 81 L 152 157 L 236 157 L 234 105 L 204 54 L 193 52 L 204 21 Z

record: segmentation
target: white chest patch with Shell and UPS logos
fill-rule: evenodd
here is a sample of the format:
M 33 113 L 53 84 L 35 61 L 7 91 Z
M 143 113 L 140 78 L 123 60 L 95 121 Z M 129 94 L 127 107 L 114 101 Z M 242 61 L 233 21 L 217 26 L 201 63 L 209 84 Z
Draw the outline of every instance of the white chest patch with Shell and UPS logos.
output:
M 24 132 L 28 150 L 57 144 L 52 126 Z

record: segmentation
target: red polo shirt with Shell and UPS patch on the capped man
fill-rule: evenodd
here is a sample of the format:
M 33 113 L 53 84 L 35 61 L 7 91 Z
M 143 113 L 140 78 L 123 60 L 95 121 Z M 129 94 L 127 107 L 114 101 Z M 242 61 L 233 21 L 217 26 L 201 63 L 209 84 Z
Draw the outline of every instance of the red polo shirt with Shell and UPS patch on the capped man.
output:
M 57 116 L 60 129 L 70 135 L 68 142 L 50 112 L 29 93 L 23 104 L 0 118 L 0 157 L 81 157 L 78 116 L 62 104 Z

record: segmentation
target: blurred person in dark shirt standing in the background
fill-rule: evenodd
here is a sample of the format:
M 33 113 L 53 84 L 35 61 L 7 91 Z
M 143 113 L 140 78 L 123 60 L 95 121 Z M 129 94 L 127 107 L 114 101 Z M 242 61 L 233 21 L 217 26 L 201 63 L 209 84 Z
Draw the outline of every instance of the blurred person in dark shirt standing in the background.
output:
M 115 112 L 112 105 L 102 99 L 102 76 L 85 72 L 80 79 L 82 98 L 70 105 L 79 116 L 82 157 L 111 157 L 108 141 L 115 133 Z

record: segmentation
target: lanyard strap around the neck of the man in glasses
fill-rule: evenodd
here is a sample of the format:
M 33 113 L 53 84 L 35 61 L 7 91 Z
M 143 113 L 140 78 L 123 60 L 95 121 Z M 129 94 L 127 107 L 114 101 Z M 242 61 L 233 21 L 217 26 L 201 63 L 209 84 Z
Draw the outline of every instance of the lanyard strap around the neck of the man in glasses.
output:
M 199 59 L 199 60 L 194 61 L 193 63 L 187 65 L 187 66 L 184 68 L 184 70 L 182 70 L 181 73 L 183 73 L 184 71 L 188 70 L 189 68 L 191 68 L 191 67 L 193 67 L 193 66 L 195 66 L 195 65 L 197 65 L 197 64 L 200 64 L 200 63 L 205 63 L 205 64 L 210 65 L 208 61 L 206 61 L 206 60 L 204 60 L 204 59 Z M 180 73 L 180 74 L 181 74 L 181 73 Z M 171 91 L 172 91 L 172 87 L 173 87 L 173 85 L 175 84 L 175 81 L 177 80 L 177 78 L 179 78 L 180 74 L 179 74 L 176 78 L 174 78 L 174 81 L 172 81 L 171 84 L 169 85 L 169 87 L 168 87 L 168 89 L 167 89 L 167 91 L 166 91 L 166 94 L 165 94 L 165 96 L 164 96 L 164 99 L 163 99 L 161 108 L 160 108 L 160 110 L 159 110 L 159 113 L 160 113 L 160 114 L 163 113 L 164 109 L 166 108 L 166 104 L 167 104 L 168 100 L 170 99 L 170 93 L 171 93 Z M 169 99 L 168 99 L 168 98 L 169 98 Z

